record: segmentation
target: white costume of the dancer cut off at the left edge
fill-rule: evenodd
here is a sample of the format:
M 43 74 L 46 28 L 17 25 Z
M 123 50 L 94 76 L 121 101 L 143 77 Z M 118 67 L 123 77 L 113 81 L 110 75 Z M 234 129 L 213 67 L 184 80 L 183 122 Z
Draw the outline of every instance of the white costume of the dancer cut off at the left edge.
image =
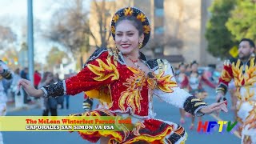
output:
M 0 60 L 0 66 L 2 67 L 3 71 L 0 73 L 0 116 L 6 115 L 6 102 L 7 102 L 7 97 L 6 93 L 4 92 L 4 88 L 2 86 L 2 81 L 3 79 L 11 79 L 12 74 L 6 64 Z M 2 142 L 2 133 L 0 132 L 0 143 Z

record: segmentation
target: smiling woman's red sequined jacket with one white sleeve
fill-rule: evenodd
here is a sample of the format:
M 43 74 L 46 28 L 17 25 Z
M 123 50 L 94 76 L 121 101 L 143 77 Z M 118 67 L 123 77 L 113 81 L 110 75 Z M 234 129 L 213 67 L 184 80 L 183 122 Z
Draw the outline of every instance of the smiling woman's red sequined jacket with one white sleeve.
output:
M 148 118 L 153 94 L 185 110 L 186 106 L 190 107 L 187 107 L 187 111 L 192 114 L 199 107 L 206 106 L 204 102 L 194 106 L 199 101 L 190 102 L 193 96 L 179 91 L 181 89 L 178 88 L 169 62 L 159 59 L 146 61 L 142 53 L 141 58 L 154 73 L 145 74 L 142 70 L 127 66 L 122 54 L 98 49 L 76 76 L 55 83 L 54 86 L 46 86 L 42 90 L 46 96 L 74 95 L 90 91 L 88 95 L 107 102 L 111 112 L 130 113 L 138 118 Z

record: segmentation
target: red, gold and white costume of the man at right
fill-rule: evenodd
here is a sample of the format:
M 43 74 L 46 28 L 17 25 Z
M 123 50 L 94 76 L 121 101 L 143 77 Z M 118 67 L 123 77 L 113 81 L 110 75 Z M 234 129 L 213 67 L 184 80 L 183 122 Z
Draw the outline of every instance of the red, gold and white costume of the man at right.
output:
M 226 94 L 229 82 L 234 79 L 238 93 L 237 121 L 242 124 L 242 142 L 256 143 L 256 73 L 255 56 L 247 62 L 231 59 L 224 62 L 217 92 Z

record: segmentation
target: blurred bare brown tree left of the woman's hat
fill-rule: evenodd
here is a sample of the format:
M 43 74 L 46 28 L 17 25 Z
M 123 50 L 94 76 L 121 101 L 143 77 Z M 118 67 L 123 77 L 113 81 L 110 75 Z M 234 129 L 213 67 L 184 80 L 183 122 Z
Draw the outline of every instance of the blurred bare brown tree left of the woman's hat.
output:
M 66 1 L 65 7 L 57 10 L 50 24 L 49 31 L 45 34 L 50 41 L 58 42 L 69 50 L 74 58 L 80 58 L 90 50 L 89 38 L 93 38 L 95 47 L 106 47 L 110 38 L 110 30 L 106 30 L 109 22 L 109 8 L 106 8 L 105 0 L 91 3 L 94 6 L 92 12 L 96 14 L 99 31 L 92 31 L 89 23 L 89 11 L 85 9 L 82 0 Z M 97 34 L 100 37 L 97 37 Z

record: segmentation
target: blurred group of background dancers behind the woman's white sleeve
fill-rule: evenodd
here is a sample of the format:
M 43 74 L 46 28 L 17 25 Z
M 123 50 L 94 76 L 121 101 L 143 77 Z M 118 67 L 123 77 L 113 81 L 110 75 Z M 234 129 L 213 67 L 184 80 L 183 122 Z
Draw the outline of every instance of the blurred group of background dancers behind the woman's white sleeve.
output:
M 218 86 L 218 79 L 222 73 L 222 65 L 218 66 L 205 66 L 200 67 L 198 62 L 194 61 L 190 64 L 181 62 L 175 70 L 175 77 L 178 82 L 178 86 L 190 94 L 195 95 L 197 98 L 204 101 L 207 97 L 207 92 L 204 89 L 205 86 L 209 86 L 213 90 Z M 236 88 L 234 82 L 230 82 L 229 86 L 231 96 L 231 109 L 235 110 L 236 105 Z M 181 119 L 180 123 L 183 124 L 186 121 L 185 117 L 191 117 L 190 130 L 194 129 L 194 117 L 180 109 Z M 235 117 L 234 117 L 235 118 Z M 198 117 L 198 121 L 202 121 L 201 117 Z

